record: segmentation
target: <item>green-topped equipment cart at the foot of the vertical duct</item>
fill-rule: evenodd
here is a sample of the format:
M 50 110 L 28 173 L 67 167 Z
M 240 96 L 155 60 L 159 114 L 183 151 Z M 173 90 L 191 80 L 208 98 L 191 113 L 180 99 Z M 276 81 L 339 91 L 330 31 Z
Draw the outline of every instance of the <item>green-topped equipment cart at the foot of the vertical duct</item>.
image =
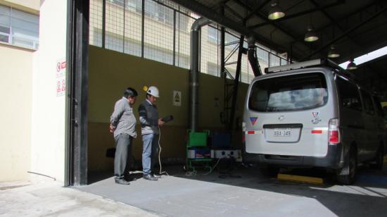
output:
M 210 148 L 207 146 L 209 130 L 203 132 L 188 131 L 188 141 L 186 144 L 186 170 L 196 173 L 195 165 L 204 166 L 211 170 L 209 165 L 212 162 Z

